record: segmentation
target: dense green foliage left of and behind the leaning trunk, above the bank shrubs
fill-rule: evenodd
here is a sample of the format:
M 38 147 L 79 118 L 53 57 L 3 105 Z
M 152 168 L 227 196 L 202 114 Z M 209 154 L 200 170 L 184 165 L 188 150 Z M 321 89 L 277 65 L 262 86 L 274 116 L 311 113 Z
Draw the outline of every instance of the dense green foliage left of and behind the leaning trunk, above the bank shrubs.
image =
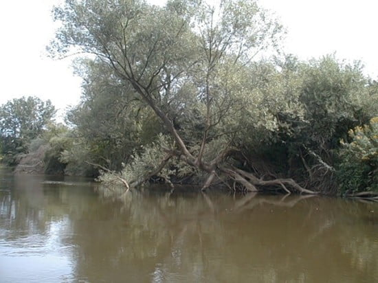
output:
M 67 113 L 67 123 L 74 128 L 77 142 L 71 148 L 73 152 L 67 150 L 65 157 L 69 163 L 82 163 L 85 167 L 88 164 L 83 161 L 90 161 L 120 170 L 135 148 L 155 139 L 161 126 L 104 63 L 80 60 L 76 72 L 84 78 L 82 98 Z

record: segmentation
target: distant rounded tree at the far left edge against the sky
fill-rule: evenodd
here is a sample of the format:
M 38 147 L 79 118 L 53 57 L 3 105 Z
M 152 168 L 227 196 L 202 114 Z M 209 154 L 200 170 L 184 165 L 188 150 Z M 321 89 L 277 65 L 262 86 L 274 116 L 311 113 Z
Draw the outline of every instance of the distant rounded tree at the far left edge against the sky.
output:
M 5 162 L 16 163 L 20 152 L 27 152 L 27 143 L 43 133 L 55 115 L 52 103 L 36 97 L 15 98 L 0 107 L 0 139 Z

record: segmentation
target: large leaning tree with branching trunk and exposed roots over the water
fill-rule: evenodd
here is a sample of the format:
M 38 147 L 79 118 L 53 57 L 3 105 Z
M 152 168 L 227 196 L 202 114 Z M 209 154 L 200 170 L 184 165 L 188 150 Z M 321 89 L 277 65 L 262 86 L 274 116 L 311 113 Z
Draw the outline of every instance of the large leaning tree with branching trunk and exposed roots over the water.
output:
M 279 186 L 311 193 L 291 179 L 260 179 L 230 158 L 245 122 L 260 115 L 252 60 L 282 36 L 281 25 L 256 1 L 225 0 L 215 7 L 172 0 L 159 7 L 138 0 L 66 0 L 54 16 L 62 27 L 51 54 L 89 54 L 107 65 L 111 79 L 128 89 L 124 95 L 146 104 L 166 128 L 172 142 L 162 145 L 162 163 L 151 174 L 178 159 L 208 175 L 203 189 L 219 178 L 249 191 Z M 127 187 L 140 182 L 124 180 Z

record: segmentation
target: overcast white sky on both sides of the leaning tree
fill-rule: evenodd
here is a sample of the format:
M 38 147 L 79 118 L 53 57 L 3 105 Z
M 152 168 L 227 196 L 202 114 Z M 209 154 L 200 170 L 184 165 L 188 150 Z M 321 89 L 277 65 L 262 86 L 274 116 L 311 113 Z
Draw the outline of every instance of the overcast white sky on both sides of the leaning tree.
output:
M 71 61 L 54 61 L 45 54 L 56 28 L 51 10 L 58 2 L 0 2 L 0 104 L 36 95 L 52 100 L 61 115 L 68 104 L 78 103 L 80 78 L 72 74 Z M 260 0 L 260 4 L 287 27 L 285 52 L 302 59 L 336 52 L 337 58 L 362 60 L 366 73 L 377 78 L 378 1 Z

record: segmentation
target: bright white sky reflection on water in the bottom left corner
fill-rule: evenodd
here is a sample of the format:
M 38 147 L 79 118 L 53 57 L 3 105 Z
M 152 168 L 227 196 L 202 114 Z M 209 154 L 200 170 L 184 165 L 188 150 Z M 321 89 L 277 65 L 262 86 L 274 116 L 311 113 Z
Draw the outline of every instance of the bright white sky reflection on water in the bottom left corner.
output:
M 26 282 L 25 279 L 27 282 L 74 280 L 71 248 L 60 242 L 60 232 L 67 225 L 67 220 L 49 223 L 46 234 L 0 240 L 0 282 Z M 1 234 L 6 234 L 4 228 L 1 227 Z

